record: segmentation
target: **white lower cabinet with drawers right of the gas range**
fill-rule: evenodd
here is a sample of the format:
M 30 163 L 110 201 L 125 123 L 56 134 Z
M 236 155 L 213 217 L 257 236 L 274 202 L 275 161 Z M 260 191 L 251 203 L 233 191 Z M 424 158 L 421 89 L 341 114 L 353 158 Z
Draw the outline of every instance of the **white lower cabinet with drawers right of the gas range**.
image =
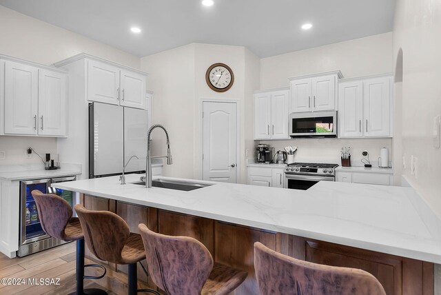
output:
M 344 183 L 393 185 L 393 174 L 381 172 L 336 171 L 336 181 Z

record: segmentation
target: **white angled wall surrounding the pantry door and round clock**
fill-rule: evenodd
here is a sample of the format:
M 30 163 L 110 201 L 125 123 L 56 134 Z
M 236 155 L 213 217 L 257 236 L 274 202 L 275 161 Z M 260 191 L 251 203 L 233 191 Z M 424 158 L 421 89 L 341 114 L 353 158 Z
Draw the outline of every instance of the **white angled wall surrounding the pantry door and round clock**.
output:
M 218 62 L 234 72 L 234 84 L 227 92 L 214 92 L 205 82 L 207 68 Z M 150 73 L 148 88 L 154 91 L 152 123 L 163 121 L 170 130 L 174 165 L 165 167 L 165 175 L 202 178 L 201 99 L 230 99 L 240 104 L 238 163 L 240 179 L 246 180 L 245 150 L 252 146 L 249 112 L 252 92 L 258 87 L 258 68 L 258 57 L 240 46 L 193 43 L 141 59 L 141 69 Z M 254 72 L 247 76 L 245 69 Z M 158 141 L 154 148 L 163 144 Z

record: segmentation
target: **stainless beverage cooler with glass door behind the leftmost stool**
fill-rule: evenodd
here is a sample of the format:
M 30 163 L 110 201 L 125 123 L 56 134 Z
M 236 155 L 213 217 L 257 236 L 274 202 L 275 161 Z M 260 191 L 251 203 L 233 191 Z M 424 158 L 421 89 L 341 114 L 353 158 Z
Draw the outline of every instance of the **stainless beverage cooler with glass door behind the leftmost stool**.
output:
M 49 236 L 41 227 L 37 204 L 32 197 L 32 190 L 39 190 L 44 194 L 57 194 L 72 207 L 74 204 L 73 192 L 59 190 L 50 187 L 51 183 L 74 181 L 76 176 L 59 177 L 57 179 L 35 179 L 21 181 L 20 183 L 20 233 L 19 250 L 17 256 L 23 257 L 29 254 L 40 252 L 65 243 Z

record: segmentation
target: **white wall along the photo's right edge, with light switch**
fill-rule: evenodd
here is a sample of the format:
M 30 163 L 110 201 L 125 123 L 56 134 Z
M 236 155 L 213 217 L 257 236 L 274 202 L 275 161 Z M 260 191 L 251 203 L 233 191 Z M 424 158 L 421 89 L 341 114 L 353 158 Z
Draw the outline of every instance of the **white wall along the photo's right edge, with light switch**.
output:
M 441 149 L 432 144 L 433 117 L 441 115 L 441 1 L 398 0 L 394 59 L 402 49 L 402 152 L 404 177 L 441 218 Z M 417 174 L 409 169 L 418 158 Z

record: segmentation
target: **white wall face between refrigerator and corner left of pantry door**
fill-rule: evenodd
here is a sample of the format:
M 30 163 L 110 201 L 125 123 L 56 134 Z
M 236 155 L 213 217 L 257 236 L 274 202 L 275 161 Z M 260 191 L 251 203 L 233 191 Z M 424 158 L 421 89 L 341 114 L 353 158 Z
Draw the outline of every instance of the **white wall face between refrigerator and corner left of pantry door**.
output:
M 147 88 L 154 92 L 152 124 L 164 125 L 170 135 L 173 165 L 163 174 L 195 179 L 194 173 L 194 44 L 143 57 L 149 72 Z M 166 154 L 165 135 L 152 132 L 152 156 Z

